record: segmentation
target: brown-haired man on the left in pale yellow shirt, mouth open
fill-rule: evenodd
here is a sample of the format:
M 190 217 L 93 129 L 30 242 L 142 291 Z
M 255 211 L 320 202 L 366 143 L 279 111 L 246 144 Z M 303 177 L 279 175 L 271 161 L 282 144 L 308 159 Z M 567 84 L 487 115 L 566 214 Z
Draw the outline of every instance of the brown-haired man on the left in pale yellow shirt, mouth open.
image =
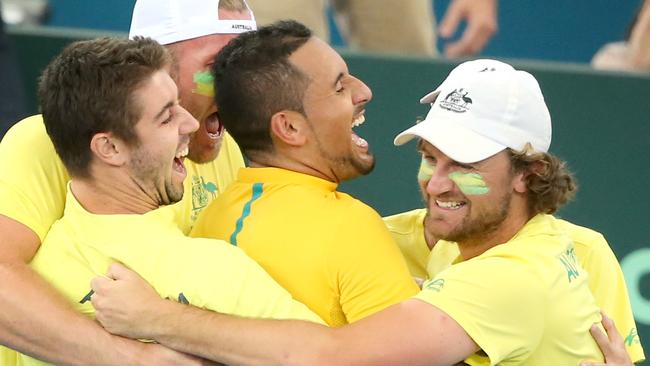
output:
M 171 211 L 156 210 L 182 198 L 198 128 L 179 104 L 170 66 L 163 46 L 136 37 L 73 43 L 45 69 L 43 120 L 71 181 L 64 215 L 30 266 L 88 316 L 91 279 L 119 261 L 180 303 L 318 322 L 241 250 L 187 238 Z

